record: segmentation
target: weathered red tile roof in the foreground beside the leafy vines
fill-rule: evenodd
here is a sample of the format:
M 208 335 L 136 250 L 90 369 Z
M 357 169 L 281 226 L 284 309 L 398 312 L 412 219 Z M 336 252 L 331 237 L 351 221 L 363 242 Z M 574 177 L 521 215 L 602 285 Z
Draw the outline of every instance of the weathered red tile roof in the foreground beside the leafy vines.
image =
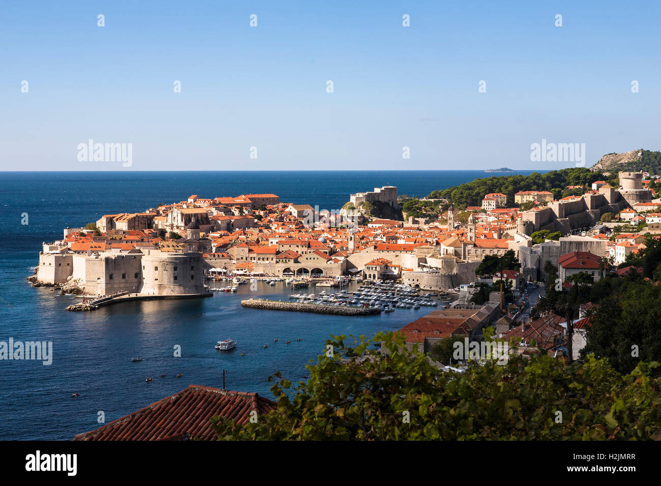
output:
M 78 434 L 74 440 L 215 440 L 210 423 L 214 415 L 245 424 L 251 411 L 263 415 L 276 406 L 257 393 L 190 385 L 97 430 Z

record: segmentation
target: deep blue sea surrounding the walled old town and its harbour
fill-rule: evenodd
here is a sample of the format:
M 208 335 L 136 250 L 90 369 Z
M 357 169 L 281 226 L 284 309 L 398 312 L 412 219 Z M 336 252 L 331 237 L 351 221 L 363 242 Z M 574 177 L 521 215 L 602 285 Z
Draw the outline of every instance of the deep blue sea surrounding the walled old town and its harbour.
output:
M 518 171 L 527 175 L 532 171 Z M 272 192 L 284 202 L 338 209 L 354 192 L 383 185 L 399 194 L 432 190 L 494 175 L 484 171 L 219 171 L 0 173 L 0 341 L 52 341 L 53 362 L 0 360 L 0 439 L 69 440 L 189 384 L 254 391 L 273 398 L 266 378 L 276 371 L 297 382 L 331 335 L 395 331 L 428 312 L 397 309 L 365 317 L 243 309 L 239 301 L 286 300 L 284 284 L 241 286 L 199 300 L 141 302 L 71 313 L 79 299 L 32 288 L 25 278 L 38 263 L 42 241 L 61 239 L 102 214 L 137 212 L 202 198 Z M 27 224 L 22 224 L 27 222 Z M 319 292 L 310 288 L 309 292 Z M 235 339 L 231 352 L 216 341 Z M 274 339 L 278 343 L 274 343 Z M 302 341 L 295 341 L 296 339 Z M 286 344 L 286 341 L 292 341 Z M 268 348 L 262 348 L 268 343 Z M 175 346 L 181 356 L 175 357 Z M 245 356 L 241 356 L 244 352 Z M 131 362 L 141 356 L 142 362 Z M 175 375 L 181 373 L 181 378 Z M 160 378 L 161 375 L 167 375 Z M 153 382 L 145 378 L 155 377 Z M 71 393 L 79 393 L 71 397 Z

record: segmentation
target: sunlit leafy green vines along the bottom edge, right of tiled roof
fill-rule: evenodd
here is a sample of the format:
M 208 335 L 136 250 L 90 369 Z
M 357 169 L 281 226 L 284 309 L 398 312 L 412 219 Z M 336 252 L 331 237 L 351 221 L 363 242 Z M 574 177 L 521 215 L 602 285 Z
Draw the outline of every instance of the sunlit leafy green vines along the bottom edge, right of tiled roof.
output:
M 221 440 L 650 440 L 661 438 L 661 383 L 656 363 L 619 374 L 588 356 L 565 366 L 548 354 L 510 356 L 506 364 L 469 362 L 440 372 L 400 335 L 379 333 L 384 354 L 344 360 L 345 336 L 331 357 L 307 366 L 293 385 L 268 378 L 278 408 L 239 425 L 212 418 Z M 557 412 L 563 419 L 556 421 Z

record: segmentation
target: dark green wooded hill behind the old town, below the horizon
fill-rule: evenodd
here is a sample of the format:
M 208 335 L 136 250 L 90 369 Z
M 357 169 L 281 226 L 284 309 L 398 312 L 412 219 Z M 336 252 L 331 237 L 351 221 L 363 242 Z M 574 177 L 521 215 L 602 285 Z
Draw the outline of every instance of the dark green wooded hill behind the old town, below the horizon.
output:
M 611 176 L 612 177 L 612 176 Z M 617 177 L 617 175 L 615 175 Z M 584 186 L 592 182 L 607 180 L 601 173 L 590 171 L 586 167 L 572 167 L 549 171 L 545 174 L 533 172 L 531 175 L 507 175 L 486 177 L 475 181 L 449 187 L 445 190 L 435 190 L 428 198 L 446 198 L 459 206 L 481 206 L 482 199 L 490 192 L 502 192 L 507 196 L 507 205 L 514 206 L 514 194 L 520 190 L 547 190 L 557 198 L 567 186 Z M 617 181 L 610 180 L 611 185 Z

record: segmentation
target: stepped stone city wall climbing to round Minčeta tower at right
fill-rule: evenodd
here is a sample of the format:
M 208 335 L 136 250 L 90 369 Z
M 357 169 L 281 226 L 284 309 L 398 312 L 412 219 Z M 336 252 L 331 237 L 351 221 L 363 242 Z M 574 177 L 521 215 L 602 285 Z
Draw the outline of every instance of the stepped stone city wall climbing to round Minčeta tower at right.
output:
M 652 200 L 652 191 L 642 188 L 642 172 L 620 172 L 619 180 L 617 189 L 606 184 L 596 194 L 549 202 L 545 208 L 525 212 L 518 222 L 517 232 L 531 235 L 548 229 L 566 234 L 572 229 L 594 226 L 607 212 L 617 214 L 633 204 Z

